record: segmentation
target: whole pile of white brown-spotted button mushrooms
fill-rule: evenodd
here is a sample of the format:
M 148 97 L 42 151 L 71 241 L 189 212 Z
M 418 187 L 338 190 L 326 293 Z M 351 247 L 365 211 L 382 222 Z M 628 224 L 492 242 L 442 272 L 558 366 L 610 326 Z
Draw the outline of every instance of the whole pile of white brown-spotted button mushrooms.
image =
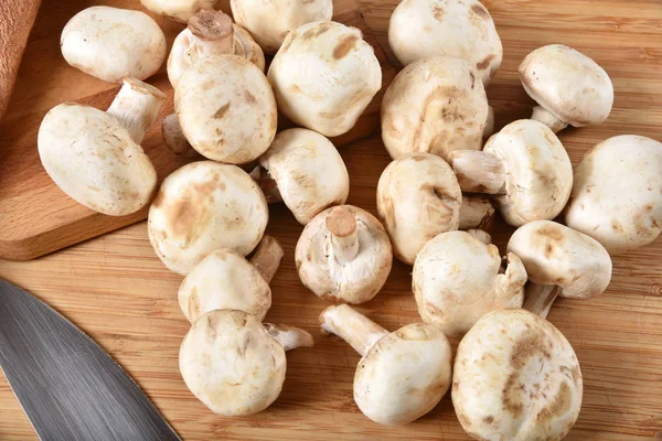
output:
M 321 329 L 362 355 L 354 399 L 370 419 L 404 424 L 451 389 L 462 427 L 484 440 L 558 440 L 583 397 L 575 352 L 545 319 L 557 295 L 604 292 L 611 258 L 662 228 L 662 143 L 619 136 L 573 170 L 556 132 L 607 119 L 607 73 L 559 44 L 520 65 L 531 119 L 493 130 L 485 87 L 502 61 L 477 0 L 405 0 L 388 41 L 405 66 L 386 90 L 382 139 L 393 162 L 378 218 L 345 205 L 350 179 L 327 137 L 350 130 L 382 87 L 361 31 L 331 21 L 331 0 L 142 0 L 186 23 L 168 57 L 175 114 L 164 143 L 200 154 L 166 178 L 140 143 L 164 94 L 142 80 L 167 55 L 157 23 L 107 7 L 62 33 L 66 61 L 122 83 L 106 111 L 65 103 L 44 118 L 41 161 L 78 203 L 121 216 L 149 208 L 149 239 L 174 272 L 191 322 L 180 352 L 186 386 L 212 411 L 245 416 L 279 395 L 285 352 L 312 346 L 299 329 L 263 323 L 282 249 L 265 236 L 268 204 L 305 225 L 302 283 L 332 305 Z M 265 75 L 265 54 L 274 58 Z M 277 133 L 278 112 L 300 128 Z M 487 142 L 484 140 L 487 139 Z M 154 196 L 156 194 L 156 196 Z M 517 227 L 502 257 L 485 232 L 494 212 Z M 563 215 L 566 225 L 553 219 Z M 252 255 L 250 260 L 246 256 Z M 388 332 L 349 304 L 373 299 L 393 256 L 413 266 L 423 323 Z M 448 338 L 459 340 L 455 355 Z

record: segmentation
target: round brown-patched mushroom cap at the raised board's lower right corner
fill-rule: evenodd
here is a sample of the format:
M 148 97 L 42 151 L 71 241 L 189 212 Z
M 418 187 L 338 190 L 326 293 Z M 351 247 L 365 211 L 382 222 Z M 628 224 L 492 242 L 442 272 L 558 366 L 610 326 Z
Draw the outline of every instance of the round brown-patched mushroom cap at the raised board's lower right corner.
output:
M 166 178 L 149 208 L 148 233 L 163 263 L 185 276 L 218 248 L 248 255 L 268 219 L 265 195 L 245 171 L 200 161 Z

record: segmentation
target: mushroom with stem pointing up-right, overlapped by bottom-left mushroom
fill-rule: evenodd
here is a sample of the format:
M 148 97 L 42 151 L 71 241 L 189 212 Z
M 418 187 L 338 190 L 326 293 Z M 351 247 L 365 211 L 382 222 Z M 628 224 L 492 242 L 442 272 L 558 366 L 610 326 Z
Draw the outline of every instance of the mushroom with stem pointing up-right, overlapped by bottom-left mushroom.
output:
M 179 303 L 191 323 L 213 310 L 237 310 L 264 320 L 271 308 L 269 282 L 282 259 L 271 236 L 259 243 L 250 261 L 221 248 L 193 268 L 179 289 Z

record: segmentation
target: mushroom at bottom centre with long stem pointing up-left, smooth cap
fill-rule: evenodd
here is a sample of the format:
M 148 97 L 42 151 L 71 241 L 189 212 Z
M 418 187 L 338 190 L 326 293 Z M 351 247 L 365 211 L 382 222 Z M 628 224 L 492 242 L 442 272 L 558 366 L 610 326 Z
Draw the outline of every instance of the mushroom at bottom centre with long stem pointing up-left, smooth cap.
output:
M 406 424 L 433 410 L 448 390 L 452 352 L 439 329 L 413 323 L 389 333 L 346 304 L 327 308 L 320 323 L 322 332 L 361 354 L 354 401 L 371 420 Z

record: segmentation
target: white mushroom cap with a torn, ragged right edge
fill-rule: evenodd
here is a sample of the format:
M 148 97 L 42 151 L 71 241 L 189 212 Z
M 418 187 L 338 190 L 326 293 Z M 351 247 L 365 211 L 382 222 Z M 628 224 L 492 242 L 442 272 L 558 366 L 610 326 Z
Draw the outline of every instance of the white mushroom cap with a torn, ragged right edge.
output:
M 428 241 L 414 265 L 412 289 L 424 322 L 461 338 L 488 312 L 522 308 L 526 270 L 514 254 L 502 271 L 494 245 L 466 232 L 442 233 Z

